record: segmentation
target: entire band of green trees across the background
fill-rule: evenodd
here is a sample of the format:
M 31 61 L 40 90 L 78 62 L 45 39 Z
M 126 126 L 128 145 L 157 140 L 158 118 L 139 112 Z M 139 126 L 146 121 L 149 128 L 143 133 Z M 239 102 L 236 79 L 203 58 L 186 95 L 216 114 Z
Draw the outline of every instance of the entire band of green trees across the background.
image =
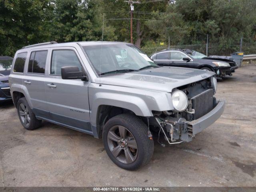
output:
M 168 37 L 171 47 L 203 50 L 200 43 L 209 34 L 213 54 L 237 51 L 241 36 L 255 45 L 255 0 L 141 2 L 134 4 L 133 37 L 148 54 L 167 48 Z M 103 15 L 103 40 L 129 42 L 124 0 L 0 0 L 0 54 L 13 56 L 22 46 L 52 40 L 101 40 Z

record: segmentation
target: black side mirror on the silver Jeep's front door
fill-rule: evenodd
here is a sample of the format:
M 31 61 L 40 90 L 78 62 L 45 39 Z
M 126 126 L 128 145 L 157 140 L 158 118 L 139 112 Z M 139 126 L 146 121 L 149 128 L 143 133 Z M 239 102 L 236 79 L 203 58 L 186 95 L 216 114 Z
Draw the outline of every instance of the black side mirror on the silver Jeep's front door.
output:
M 62 79 L 81 79 L 88 81 L 87 76 L 84 72 L 80 71 L 76 66 L 66 66 L 61 68 L 61 78 Z

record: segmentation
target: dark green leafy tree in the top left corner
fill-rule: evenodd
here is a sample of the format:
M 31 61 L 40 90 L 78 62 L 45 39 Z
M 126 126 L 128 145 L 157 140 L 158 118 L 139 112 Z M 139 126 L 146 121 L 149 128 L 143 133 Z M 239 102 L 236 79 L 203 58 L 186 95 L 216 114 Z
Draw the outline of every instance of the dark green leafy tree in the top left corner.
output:
M 44 36 L 48 0 L 0 1 L 0 52 L 13 56 L 18 48 Z

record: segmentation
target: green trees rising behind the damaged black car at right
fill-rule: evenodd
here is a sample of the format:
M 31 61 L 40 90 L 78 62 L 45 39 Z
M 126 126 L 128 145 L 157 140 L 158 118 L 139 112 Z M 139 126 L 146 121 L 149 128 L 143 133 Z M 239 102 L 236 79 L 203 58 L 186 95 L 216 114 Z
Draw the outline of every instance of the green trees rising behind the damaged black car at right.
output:
M 209 34 L 212 54 L 230 54 L 239 50 L 242 36 L 256 42 L 255 8 L 255 0 L 176 0 L 146 25 L 152 36 L 169 36 L 171 45 L 203 43 Z

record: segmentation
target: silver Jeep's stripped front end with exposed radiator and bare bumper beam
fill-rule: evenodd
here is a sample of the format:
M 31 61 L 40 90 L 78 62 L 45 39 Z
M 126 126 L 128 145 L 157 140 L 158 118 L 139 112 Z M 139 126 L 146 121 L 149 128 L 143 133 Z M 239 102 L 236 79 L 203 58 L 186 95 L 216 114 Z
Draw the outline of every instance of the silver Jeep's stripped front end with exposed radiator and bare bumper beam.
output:
M 159 133 L 164 133 L 169 144 L 192 141 L 197 133 L 213 124 L 224 111 L 225 102 L 217 101 L 214 97 L 216 84 L 216 78 L 210 77 L 176 88 L 187 96 L 186 109 L 154 111 L 151 124 L 159 128 Z

